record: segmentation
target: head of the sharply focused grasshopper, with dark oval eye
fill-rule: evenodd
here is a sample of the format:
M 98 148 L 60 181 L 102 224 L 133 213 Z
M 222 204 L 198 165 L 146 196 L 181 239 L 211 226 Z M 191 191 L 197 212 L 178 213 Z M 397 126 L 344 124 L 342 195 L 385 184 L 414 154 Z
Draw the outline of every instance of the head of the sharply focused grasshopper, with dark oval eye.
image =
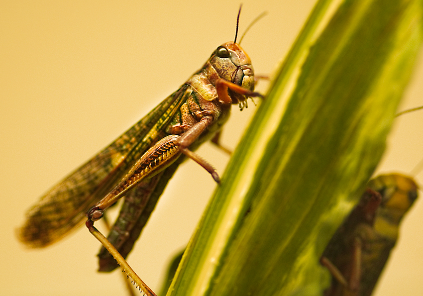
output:
M 245 51 L 234 42 L 226 42 L 213 52 L 210 63 L 220 78 L 249 91 L 254 90 L 254 70 Z M 246 100 L 245 96 L 231 92 L 233 103 Z

